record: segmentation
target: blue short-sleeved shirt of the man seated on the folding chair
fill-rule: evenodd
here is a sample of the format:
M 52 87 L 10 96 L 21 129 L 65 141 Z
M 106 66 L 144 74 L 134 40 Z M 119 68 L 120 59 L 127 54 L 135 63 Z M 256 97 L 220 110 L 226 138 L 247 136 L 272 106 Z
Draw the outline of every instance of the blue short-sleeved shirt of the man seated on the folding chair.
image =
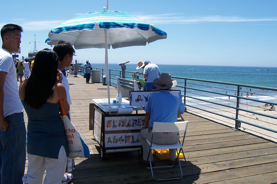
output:
M 161 90 L 150 94 L 144 110 L 151 113 L 149 126 L 153 127 L 154 122 L 177 122 L 177 112 L 183 114 L 185 106 L 170 91 Z

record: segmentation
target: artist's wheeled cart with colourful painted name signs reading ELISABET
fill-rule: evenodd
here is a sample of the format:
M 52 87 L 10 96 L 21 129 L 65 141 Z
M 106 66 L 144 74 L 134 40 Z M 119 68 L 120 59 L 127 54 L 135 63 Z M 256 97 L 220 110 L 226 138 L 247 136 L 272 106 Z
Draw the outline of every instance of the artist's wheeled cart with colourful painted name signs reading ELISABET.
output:
M 129 99 L 122 99 L 122 105 L 116 105 L 111 99 L 111 108 L 108 108 L 108 99 L 92 99 L 90 104 L 90 130 L 98 142 L 101 158 L 106 153 L 122 151 L 138 151 L 142 154 L 139 133 L 144 126 L 145 113 L 143 110 L 151 93 L 156 91 L 130 91 Z M 180 90 L 171 90 L 171 94 L 181 97 Z M 133 113 L 136 111 L 136 113 Z M 182 116 L 178 116 L 178 119 Z

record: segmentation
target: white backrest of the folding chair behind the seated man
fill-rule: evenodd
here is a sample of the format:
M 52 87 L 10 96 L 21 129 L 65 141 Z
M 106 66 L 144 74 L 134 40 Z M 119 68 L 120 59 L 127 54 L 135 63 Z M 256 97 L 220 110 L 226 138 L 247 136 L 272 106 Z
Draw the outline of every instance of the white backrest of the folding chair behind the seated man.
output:
M 188 121 L 184 122 L 154 122 L 152 132 L 187 131 Z

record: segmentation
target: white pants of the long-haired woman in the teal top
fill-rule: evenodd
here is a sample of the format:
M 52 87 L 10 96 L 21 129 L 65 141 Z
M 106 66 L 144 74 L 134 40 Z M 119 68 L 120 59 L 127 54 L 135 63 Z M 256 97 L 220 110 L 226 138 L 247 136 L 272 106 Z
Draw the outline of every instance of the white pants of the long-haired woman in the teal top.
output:
M 50 150 L 49 150 L 50 151 Z M 43 184 L 57 184 L 62 183 L 64 177 L 67 156 L 62 146 L 59 151 L 58 159 L 46 158 L 36 155 L 27 154 L 28 157 L 28 170 L 27 175 L 22 177 L 25 184 L 38 184 L 42 183 L 43 174 L 46 170 L 46 176 Z

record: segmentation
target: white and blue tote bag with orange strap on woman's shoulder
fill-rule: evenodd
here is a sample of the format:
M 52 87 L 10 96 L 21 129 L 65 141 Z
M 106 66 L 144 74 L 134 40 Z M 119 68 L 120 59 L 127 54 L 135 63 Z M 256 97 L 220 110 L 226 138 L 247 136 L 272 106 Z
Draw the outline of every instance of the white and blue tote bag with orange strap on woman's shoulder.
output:
M 57 85 L 58 94 L 59 94 L 59 85 Z M 64 100 L 64 99 L 63 99 Z M 59 94 L 59 103 L 62 108 L 62 122 L 64 124 L 64 131 L 66 135 L 67 146 L 69 150 L 68 158 L 90 158 L 90 150 L 87 144 L 84 142 L 75 126 L 71 123 L 70 119 L 65 115 L 64 107 L 62 106 L 62 102 L 60 94 Z

